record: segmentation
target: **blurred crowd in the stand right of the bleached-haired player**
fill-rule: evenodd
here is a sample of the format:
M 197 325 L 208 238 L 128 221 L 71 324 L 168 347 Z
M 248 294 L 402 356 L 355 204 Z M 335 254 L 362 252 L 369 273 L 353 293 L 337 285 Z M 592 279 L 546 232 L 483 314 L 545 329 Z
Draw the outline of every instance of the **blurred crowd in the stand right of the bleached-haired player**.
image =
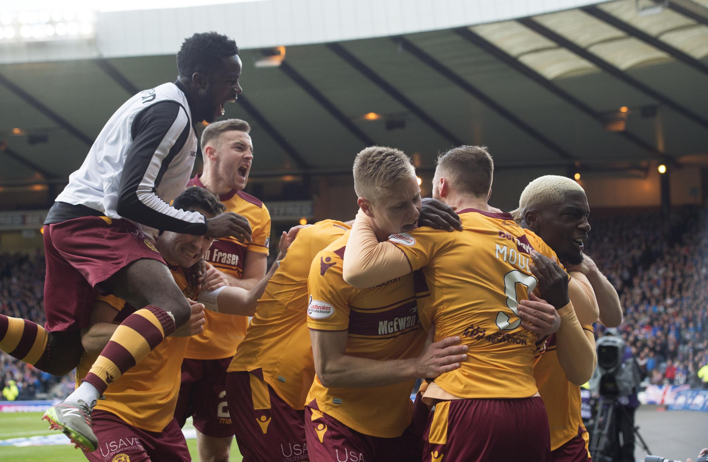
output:
M 614 284 L 619 327 L 646 383 L 700 385 L 708 364 L 708 210 L 593 222 L 589 252 Z

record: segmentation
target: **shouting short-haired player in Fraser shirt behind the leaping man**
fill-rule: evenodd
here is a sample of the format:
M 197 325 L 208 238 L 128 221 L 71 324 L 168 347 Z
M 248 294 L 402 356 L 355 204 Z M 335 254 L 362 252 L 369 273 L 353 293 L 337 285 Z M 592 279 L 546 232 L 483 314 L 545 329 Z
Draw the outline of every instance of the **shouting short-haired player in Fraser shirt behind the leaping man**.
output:
M 251 242 L 224 237 L 205 254 L 208 270 L 203 291 L 224 286 L 249 290 L 265 274 L 270 214 L 257 198 L 244 193 L 253 162 L 249 124 L 240 119 L 211 123 L 201 136 L 204 169 L 190 186 L 219 196 L 228 212 L 249 220 Z M 229 459 L 233 429 L 226 394 L 226 371 L 246 334 L 249 318 L 207 311 L 201 334 L 190 337 L 182 364 L 182 383 L 175 417 L 183 425 L 192 416 L 201 462 Z

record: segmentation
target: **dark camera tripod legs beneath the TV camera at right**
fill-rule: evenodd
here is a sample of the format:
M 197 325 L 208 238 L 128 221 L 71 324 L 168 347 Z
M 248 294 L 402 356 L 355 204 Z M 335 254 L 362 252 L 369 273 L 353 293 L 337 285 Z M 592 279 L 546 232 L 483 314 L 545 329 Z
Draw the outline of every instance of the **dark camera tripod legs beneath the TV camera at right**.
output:
M 619 436 L 617 429 L 617 412 L 622 412 L 625 415 L 627 410 L 624 410 L 622 405 L 619 405 L 617 398 L 608 398 L 600 396 L 597 403 L 597 414 L 593 424 L 593 432 L 590 436 L 590 454 L 593 460 L 597 462 L 612 462 L 612 445 L 610 443 Z M 646 446 L 646 441 L 639 434 L 639 427 L 634 426 L 634 435 L 646 453 L 651 454 L 649 446 Z

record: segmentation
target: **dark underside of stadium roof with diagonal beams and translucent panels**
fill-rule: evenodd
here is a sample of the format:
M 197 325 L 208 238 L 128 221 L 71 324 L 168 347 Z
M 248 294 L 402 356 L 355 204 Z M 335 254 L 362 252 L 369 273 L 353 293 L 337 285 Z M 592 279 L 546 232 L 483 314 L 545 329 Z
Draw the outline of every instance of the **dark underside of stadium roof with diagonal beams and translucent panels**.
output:
M 372 144 L 423 168 L 462 143 L 517 168 L 708 154 L 708 0 L 287 46 L 262 67 L 273 51 L 241 52 L 227 105 L 253 126 L 254 175 L 346 171 Z M 65 180 L 120 104 L 175 77 L 174 55 L 0 64 L 0 183 Z

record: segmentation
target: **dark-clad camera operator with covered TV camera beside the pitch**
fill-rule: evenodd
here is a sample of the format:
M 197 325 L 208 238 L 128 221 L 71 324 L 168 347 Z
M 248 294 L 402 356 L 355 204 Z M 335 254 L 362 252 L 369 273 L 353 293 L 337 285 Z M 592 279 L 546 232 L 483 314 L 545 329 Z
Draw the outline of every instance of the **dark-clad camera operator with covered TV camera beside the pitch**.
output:
M 590 390 L 605 400 L 614 400 L 611 411 L 614 418 L 607 435 L 610 444 L 600 451 L 607 451 L 603 455 L 612 461 L 634 462 L 634 414 L 639 407 L 636 392 L 643 379 L 641 369 L 632 348 L 624 343 L 617 329 L 605 330 L 597 344 L 598 367 L 590 379 Z

